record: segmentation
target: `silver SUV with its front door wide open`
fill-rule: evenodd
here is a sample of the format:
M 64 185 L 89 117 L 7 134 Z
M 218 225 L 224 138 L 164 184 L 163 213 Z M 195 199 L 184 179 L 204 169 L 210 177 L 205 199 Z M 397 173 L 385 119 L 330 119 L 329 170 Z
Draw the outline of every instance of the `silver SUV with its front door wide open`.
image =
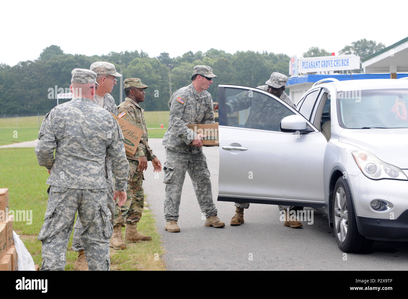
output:
M 314 208 L 344 252 L 408 241 L 408 80 L 320 80 L 296 110 L 253 87 L 218 94 L 218 200 Z

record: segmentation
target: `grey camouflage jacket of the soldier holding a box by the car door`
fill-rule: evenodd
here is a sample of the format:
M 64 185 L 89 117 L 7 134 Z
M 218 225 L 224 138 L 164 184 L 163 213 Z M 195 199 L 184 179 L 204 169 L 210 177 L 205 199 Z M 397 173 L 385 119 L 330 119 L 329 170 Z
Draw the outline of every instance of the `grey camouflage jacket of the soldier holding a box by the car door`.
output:
M 188 124 L 213 124 L 213 99 L 208 91 L 197 93 L 193 83 L 177 90 L 171 96 L 169 128 L 164 134 L 163 145 L 179 153 L 199 153 L 201 147 L 189 145 L 197 133 Z

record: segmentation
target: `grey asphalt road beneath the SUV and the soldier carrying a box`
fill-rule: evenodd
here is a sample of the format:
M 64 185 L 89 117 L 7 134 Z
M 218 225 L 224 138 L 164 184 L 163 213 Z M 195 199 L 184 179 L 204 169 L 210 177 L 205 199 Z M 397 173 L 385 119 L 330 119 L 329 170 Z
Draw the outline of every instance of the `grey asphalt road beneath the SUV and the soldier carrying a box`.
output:
M 162 139 L 149 145 L 165 161 Z M 230 226 L 235 213 L 231 202 L 217 202 L 219 147 L 205 147 L 211 172 L 213 199 L 225 228 L 204 227 L 191 179 L 186 175 L 180 204 L 180 233 L 164 230 L 164 173 L 156 177 L 153 166 L 143 182 L 147 201 L 157 219 L 166 253 L 167 270 L 407 270 L 408 242 L 375 241 L 373 252 L 345 254 L 337 247 L 326 217 L 314 211 L 313 224 L 290 228 L 279 221 L 274 205 L 251 204 L 245 223 Z

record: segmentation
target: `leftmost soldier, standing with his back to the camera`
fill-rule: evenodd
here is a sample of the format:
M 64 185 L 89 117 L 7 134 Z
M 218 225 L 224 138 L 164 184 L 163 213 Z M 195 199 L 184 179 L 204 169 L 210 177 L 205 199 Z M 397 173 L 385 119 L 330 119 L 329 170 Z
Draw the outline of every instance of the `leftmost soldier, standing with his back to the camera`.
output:
M 75 213 L 81 220 L 81 240 L 89 270 L 109 270 L 111 212 L 107 206 L 105 158 L 111 158 L 116 178 L 114 198 L 126 200 L 128 163 L 123 135 L 113 116 L 91 99 L 96 73 L 72 71 L 71 91 L 75 97 L 56 106 L 42 122 L 35 154 L 38 164 L 50 173 L 51 185 L 42 241 L 41 270 L 64 270 Z M 54 158 L 55 149 L 55 158 Z M 111 199 L 110 199 L 111 200 Z

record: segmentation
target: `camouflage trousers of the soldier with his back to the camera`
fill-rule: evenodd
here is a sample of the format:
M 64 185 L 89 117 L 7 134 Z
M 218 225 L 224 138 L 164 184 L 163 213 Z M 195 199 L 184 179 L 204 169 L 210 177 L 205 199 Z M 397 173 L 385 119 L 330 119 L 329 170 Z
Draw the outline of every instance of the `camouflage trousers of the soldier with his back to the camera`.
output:
M 38 240 L 42 241 L 41 270 L 64 270 L 77 210 L 83 226 L 81 240 L 89 270 L 109 270 L 112 224 L 106 200 L 106 189 L 51 186 L 44 224 L 38 234 Z

